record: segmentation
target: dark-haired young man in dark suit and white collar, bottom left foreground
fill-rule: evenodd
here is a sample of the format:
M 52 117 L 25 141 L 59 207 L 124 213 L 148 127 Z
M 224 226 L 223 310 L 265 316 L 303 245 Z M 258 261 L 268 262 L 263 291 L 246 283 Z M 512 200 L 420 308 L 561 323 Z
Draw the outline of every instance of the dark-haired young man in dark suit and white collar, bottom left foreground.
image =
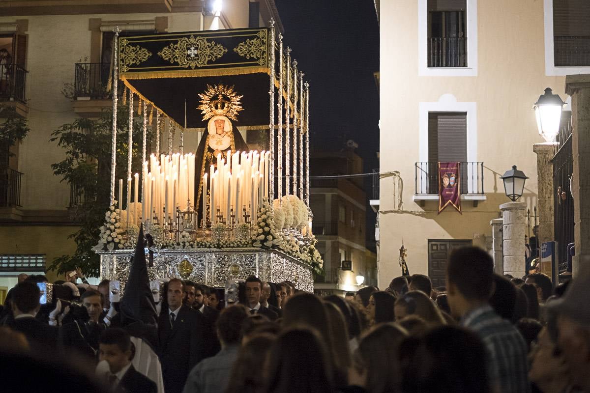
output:
M 156 393 L 156 383 L 137 372 L 131 361 L 133 351 L 129 333 L 120 328 L 110 328 L 99 338 L 99 358 L 109 364 L 104 381 L 115 392 Z

